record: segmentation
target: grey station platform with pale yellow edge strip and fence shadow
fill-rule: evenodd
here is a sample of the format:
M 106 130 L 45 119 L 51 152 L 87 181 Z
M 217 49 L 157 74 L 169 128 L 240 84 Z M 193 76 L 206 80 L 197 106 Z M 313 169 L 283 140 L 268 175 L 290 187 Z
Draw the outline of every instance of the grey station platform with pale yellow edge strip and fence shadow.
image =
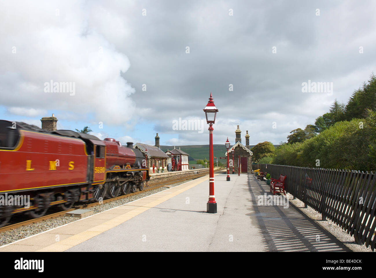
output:
M 205 176 L 16 241 L 0 252 L 350 251 L 293 204 L 260 205 L 259 196 L 270 195 L 265 182 L 248 174 L 230 174 L 227 182 L 226 176 L 215 174 L 216 214 L 206 213 Z

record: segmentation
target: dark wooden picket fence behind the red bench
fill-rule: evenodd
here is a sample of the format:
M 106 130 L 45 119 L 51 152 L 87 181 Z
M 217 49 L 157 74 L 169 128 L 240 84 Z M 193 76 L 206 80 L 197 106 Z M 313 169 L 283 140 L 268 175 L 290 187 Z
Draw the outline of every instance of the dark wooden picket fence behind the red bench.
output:
M 274 179 L 287 175 L 287 192 L 341 226 L 356 243 L 374 250 L 376 173 L 273 164 L 254 164 L 252 169 Z

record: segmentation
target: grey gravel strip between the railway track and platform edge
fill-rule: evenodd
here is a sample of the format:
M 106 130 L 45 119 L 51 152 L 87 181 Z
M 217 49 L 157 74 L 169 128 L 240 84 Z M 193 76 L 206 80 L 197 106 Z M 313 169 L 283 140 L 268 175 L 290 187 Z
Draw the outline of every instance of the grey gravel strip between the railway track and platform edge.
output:
M 174 186 L 180 185 L 180 184 L 185 183 L 185 182 L 190 182 L 191 180 L 193 180 L 193 179 L 184 180 L 184 181 L 177 182 L 177 183 L 174 183 L 174 184 L 168 185 L 168 186 L 174 187 Z M 141 193 L 133 195 L 133 196 L 124 197 L 122 199 L 118 199 L 118 200 L 115 200 L 115 201 L 112 201 L 112 202 L 104 203 L 102 205 L 92 206 L 88 209 L 94 211 L 94 214 L 97 214 L 99 212 L 103 212 L 103 211 L 106 211 L 108 209 L 115 208 L 115 207 L 120 206 L 120 205 L 124 205 L 126 203 L 129 203 L 129 202 L 135 201 L 137 199 L 140 199 L 140 198 L 143 198 L 143 197 L 164 191 L 166 189 L 168 189 L 168 188 L 159 187 L 159 188 L 152 189 L 152 190 L 149 190 L 149 191 L 141 192 Z M 78 217 L 59 216 L 59 217 L 43 220 L 41 222 L 21 226 L 21 227 L 11 229 L 11 230 L 8 230 L 8 231 L 5 231 L 5 232 L 1 232 L 0 233 L 0 246 L 12 243 L 12 242 L 17 241 L 17 240 L 21 240 L 21 239 L 26 238 L 26 237 L 30 237 L 31 235 L 39 234 L 40 232 L 44 232 L 44 231 L 50 230 L 52 228 L 57 228 L 59 226 L 65 225 L 65 224 L 73 222 L 73 221 L 77 221 L 79 219 L 80 218 L 78 218 Z

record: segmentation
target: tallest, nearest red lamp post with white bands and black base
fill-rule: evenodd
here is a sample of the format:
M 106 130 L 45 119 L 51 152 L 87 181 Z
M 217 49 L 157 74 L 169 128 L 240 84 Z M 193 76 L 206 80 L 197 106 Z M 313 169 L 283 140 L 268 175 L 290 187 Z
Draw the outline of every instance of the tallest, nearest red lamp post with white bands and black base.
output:
M 203 109 L 206 116 L 206 122 L 209 124 L 209 201 L 206 203 L 206 212 L 217 213 L 217 203 L 215 202 L 214 196 L 214 162 L 213 162 L 213 124 L 215 123 L 215 116 L 217 115 L 218 109 L 214 105 L 212 93 L 210 93 L 210 98 L 208 104 Z

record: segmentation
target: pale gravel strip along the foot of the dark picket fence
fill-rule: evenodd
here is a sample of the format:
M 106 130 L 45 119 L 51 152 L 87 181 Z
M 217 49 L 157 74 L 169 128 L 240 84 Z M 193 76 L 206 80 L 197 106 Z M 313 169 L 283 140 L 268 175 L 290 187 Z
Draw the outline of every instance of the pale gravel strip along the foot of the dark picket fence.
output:
M 343 244 L 349 247 L 354 252 L 375 252 L 371 250 L 371 247 L 365 247 L 364 244 L 359 245 L 355 243 L 354 237 L 347 234 L 340 226 L 334 223 L 331 220 L 323 221 L 321 220 L 321 214 L 315 211 L 314 209 L 304 208 L 304 203 L 299 199 L 293 200 L 293 196 L 290 193 L 286 194 L 287 198 L 290 198 L 289 202 L 292 203 L 294 206 L 299 208 L 302 212 L 308 215 L 312 220 L 314 220 L 318 225 L 326 229 L 332 235 L 334 235 L 338 240 L 340 240 Z M 328 218 L 327 218 L 328 219 Z

